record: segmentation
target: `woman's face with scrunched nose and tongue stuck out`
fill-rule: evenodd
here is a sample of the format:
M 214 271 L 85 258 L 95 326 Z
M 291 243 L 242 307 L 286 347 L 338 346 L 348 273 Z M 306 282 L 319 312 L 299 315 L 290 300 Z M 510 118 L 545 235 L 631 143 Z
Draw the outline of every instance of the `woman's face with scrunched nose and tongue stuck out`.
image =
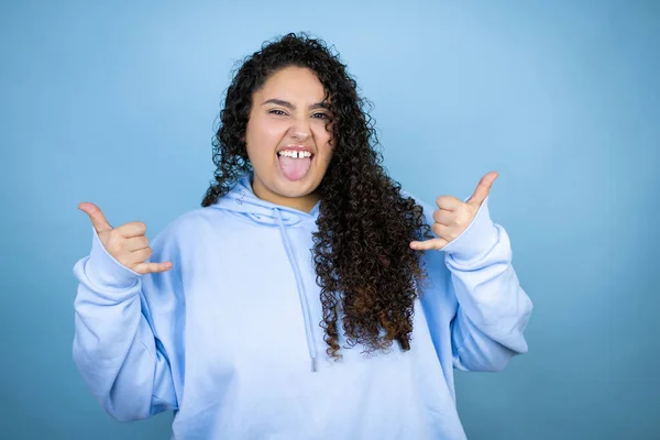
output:
M 323 97 L 314 72 L 301 67 L 276 72 L 253 94 L 245 143 L 258 198 L 307 212 L 319 200 L 332 158 Z

